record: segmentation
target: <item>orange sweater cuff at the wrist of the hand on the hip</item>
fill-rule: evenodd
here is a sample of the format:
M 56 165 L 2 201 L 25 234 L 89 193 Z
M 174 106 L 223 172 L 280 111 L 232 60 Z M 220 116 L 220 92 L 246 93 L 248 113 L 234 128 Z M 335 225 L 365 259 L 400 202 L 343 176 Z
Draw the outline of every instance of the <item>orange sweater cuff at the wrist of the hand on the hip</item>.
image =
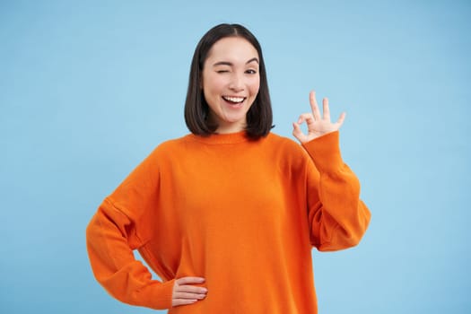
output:
M 155 281 L 151 286 L 139 292 L 140 298 L 145 300 L 144 306 L 154 310 L 170 309 L 174 282 L 175 279 L 164 283 Z

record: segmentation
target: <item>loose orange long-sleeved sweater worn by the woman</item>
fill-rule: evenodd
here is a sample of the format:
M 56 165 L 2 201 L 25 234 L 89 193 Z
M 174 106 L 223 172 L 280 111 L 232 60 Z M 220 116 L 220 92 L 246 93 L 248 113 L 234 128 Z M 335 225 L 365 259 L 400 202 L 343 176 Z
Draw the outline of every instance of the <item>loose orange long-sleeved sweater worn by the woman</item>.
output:
M 338 132 L 303 147 L 243 132 L 161 144 L 87 228 L 97 280 L 120 301 L 170 309 L 175 278 L 205 277 L 206 298 L 173 314 L 317 313 L 312 246 L 356 245 L 370 212 Z

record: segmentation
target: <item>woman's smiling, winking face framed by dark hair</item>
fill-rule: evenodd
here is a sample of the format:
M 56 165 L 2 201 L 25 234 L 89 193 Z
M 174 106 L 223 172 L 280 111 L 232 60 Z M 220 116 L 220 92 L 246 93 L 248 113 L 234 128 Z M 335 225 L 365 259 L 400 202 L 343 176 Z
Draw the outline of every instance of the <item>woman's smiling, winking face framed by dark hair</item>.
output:
M 260 87 L 258 53 L 246 39 L 216 41 L 203 68 L 202 88 L 217 133 L 242 131 Z

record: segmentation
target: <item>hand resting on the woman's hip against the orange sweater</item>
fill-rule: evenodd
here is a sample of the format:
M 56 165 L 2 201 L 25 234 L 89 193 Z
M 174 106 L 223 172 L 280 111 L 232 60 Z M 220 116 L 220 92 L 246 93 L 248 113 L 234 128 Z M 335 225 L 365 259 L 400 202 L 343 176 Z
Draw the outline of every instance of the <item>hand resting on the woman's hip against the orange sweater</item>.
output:
M 198 300 L 205 299 L 207 289 L 194 284 L 205 283 L 201 277 L 181 277 L 173 284 L 171 294 L 171 306 L 193 304 Z

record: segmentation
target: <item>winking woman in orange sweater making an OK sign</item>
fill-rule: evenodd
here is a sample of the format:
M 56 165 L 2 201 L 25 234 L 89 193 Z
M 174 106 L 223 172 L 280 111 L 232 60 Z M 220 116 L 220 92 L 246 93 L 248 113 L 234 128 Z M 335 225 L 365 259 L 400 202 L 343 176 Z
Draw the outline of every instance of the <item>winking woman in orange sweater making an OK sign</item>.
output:
M 87 228 L 97 280 L 169 313 L 316 313 L 310 250 L 356 245 L 370 212 L 340 156 L 345 114 L 330 122 L 324 100 L 321 117 L 314 92 L 310 104 L 293 124 L 301 145 L 271 133 L 257 39 L 237 24 L 208 31 L 191 65 L 191 134 L 160 144 Z

